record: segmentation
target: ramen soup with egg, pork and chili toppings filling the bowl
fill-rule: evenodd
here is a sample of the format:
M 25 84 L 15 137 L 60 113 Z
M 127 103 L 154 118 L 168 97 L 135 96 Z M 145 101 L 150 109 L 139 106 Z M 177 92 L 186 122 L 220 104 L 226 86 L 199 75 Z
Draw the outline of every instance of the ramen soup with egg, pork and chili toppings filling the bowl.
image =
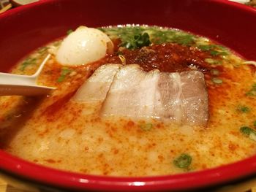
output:
M 1 149 L 72 172 L 195 172 L 256 153 L 255 61 L 157 26 L 79 27 L 11 69 L 56 87 L 0 97 Z

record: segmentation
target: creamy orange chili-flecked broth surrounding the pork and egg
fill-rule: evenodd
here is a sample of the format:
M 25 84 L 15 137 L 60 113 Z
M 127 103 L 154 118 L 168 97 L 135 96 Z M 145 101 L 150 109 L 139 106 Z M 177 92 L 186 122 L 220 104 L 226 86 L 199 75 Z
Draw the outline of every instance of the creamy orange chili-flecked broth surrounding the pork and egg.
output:
M 165 28 L 147 27 L 134 30 L 128 27 L 129 33 L 124 33 L 125 28 L 102 30 L 116 45 L 122 45 L 116 48 L 115 54 L 89 66 L 73 67 L 61 66 L 52 57 L 43 69 L 39 83 L 56 86 L 56 91 L 40 98 L 0 98 L 0 143 L 3 150 L 56 169 L 118 176 L 191 172 L 255 155 L 254 132 L 246 137 L 240 129 L 243 126 L 255 128 L 255 96 L 248 94 L 253 91 L 255 66 L 241 64 L 244 60 L 226 48 L 214 47 L 208 39 L 191 37 L 182 31 L 175 33 Z M 148 49 L 155 51 L 155 55 L 159 55 L 157 58 L 148 50 L 149 55 L 141 57 L 138 47 L 129 50 L 129 45 L 122 42 L 122 38 L 130 37 L 121 37 L 121 34 L 141 31 L 148 32 L 152 38 L 154 45 Z M 163 37 L 167 43 L 162 44 L 160 38 L 157 39 L 160 45 L 157 45 L 158 42 L 154 42 L 156 37 Z M 31 53 L 12 69 L 12 73 L 33 74 L 45 55 L 54 51 L 58 44 L 59 41 L 53 42 Z M 167 50 L 173 50 L 173 47 L 178 51 L 172 52 L 170 57 L 161 56 L 167 55 Z M 144 54 L 145 48 L 142 49 Z M 161 66 L 168 59 L 170 63 L 187 62 L 189 65 L 182 70 L 199 67 L 205 74 L 208 89 L 208 125 L 192 127 L 154 119 L 100 118 L 101 103 L 75 102 L 72 99 L 75 91 L 95 69 L 110 62 L 121 63 L 117 53 L 127 58 L 127 64 L 137 61 L 148 71 L 155 68 L 171 71 Z M 192 56 L 184 58 L 179 55 L 181 53 Z M 149 65 L 153 60 L 154 65 Z

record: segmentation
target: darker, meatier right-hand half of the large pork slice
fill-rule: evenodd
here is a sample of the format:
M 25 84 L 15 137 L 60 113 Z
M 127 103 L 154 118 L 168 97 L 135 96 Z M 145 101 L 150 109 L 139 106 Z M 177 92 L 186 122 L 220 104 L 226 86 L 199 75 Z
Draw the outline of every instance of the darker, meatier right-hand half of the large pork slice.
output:
M 158 88 L 160 104 L 156 116 L 191 126 L 206 126 L 208 93 L 204 75 L 198 71 L 161 73 Z

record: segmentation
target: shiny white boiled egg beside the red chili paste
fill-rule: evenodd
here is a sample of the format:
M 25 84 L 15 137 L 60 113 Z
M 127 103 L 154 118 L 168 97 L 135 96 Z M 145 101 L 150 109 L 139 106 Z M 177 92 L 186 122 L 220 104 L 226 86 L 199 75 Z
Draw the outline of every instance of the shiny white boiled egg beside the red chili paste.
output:
M 56 53 L 56 60 L 64 66 L 89 64 L 113 53 L 113 42 L 97 28 L 78 27 L 69 34 Z

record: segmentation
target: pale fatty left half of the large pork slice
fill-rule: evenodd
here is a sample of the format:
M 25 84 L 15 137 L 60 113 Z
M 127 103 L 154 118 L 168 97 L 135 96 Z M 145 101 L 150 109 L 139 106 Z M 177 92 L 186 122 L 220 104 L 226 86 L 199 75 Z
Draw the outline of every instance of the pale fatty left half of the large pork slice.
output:
M 144 72 L 136 64 L 123 66 L 113 79 L 102 106 L 102 115 L 154 117 L 159 74 L 159 70 Z

